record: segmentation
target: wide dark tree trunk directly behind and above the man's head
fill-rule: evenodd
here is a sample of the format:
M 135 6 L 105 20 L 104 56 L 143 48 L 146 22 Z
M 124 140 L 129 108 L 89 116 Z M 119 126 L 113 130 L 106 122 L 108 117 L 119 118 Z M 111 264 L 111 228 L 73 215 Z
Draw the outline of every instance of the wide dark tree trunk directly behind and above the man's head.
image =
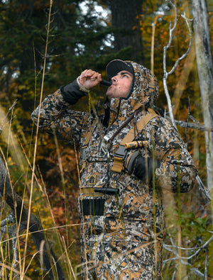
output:
M 131 60 L 143 63 L 143 45 L 140 30 L 141 0 L 110 0 L 111 23 L 118 28 L 114 33 L 115 50 L 131 47 Z M 128 59 L 128 58 L 126 58 Z

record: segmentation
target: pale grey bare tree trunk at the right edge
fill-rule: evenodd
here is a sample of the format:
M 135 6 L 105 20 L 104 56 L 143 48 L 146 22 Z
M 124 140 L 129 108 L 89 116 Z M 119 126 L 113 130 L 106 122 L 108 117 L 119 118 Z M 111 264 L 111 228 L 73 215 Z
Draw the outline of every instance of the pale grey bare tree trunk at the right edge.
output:
M 192 13 L 195 28 L 195 51 L 197 59 L 197 71 L 200 80 L 200 92 L 204 125 L 213 128 L 213 66 L 211 43 L 209 35 L 209 21 L 206 0 L 192 0 Z M 205 133 L 207 186 L 213 187 L 213 133 Z

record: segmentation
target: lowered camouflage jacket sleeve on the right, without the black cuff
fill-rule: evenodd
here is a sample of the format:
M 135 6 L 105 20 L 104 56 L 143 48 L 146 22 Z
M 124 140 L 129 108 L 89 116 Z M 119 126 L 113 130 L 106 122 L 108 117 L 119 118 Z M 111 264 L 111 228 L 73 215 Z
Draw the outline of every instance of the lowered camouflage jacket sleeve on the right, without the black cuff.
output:
M 155 169 L 155 180 L 162 188 L 182 193 L 192 189 L 197 169 L 178 131 L 165 119 L 155 135 L 154 155 L 160 162 Z

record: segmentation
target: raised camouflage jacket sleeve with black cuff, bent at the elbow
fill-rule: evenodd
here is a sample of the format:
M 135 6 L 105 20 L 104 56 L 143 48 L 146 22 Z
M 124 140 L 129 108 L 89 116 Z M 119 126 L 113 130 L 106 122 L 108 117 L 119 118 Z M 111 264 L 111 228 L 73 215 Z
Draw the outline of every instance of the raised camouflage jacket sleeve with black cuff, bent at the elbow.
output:
M 35 108 L 31 118 L 35 125 L 48 133 L 55 133 L 60 139 L 68 142 L 80 142 L 80 135 L 88 113 L 68 110 L 68 106 L 75 104 L 86 94 L 80 91 L 77 82 L 62 86 L 54 94 L 47 96 L 40 106 Z M 38 123 L 38 116 L 40 118 Z

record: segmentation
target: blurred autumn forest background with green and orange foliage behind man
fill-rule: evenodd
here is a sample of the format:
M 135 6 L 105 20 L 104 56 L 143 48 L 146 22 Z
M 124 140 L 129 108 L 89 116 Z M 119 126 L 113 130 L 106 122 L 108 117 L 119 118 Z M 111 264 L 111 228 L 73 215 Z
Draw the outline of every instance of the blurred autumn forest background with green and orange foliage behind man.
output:
M 107 79 L 107 63 L 119 58 L 153 69 L 160 85 L 157 106 L 160 113 L 169 117 L 163 85 L 163 50 L 170 38 L 170 22 L 174 24 L 175 21 L 173 3 L 155 0 L 0 1 L 1 153 L 6 159 L 13 188 L 26 207 L 40 218 L 67 279 L 78 279 L 80 271 L 77 152 L 69 143 L 60 142 L 42 131 L 37 138 L 31 113 L 40 98 L 72 82 L 84 69 L 94 69 Z M 185 12 L 185 16 L 192 19 L 191 5 L 191 1 L 175 4 L 178 22 L 167 52 L 168 69 L 190 44 L 189 29 L 181 15 Z M 211 0 L 207 0 L 207 20 L 212 40 Z M 190 52 L 170 74 L 167 86 L 175 120 L 188 123 L 187 128 L 178 123 L 178 130 L 187 143 L 200 179 L 207 186 L 205 135 L 201 129 L 204 108 L 192 21 L 189 24 L 192 28 Z M 97 87 L 91 99 L 81 99 L 75 109 L 89 110 L 96 105 L 99 94 L 103 102 L 105 91 L 104 87 Z M 11 108 L 14 101 L 16 104 Z M 190 128 L 190 117 L 194 128 Z M 212 208 L 204 191 L 196 184 L 189 194 L 165 193 L 164 203 L 164 279 L 213 279 L 212 242 L 199 254 L 189 257 L 212 237 Z M 1 219 L 9 212 L 9 207 L 1 211 Z M 1 234 L 0 255 L 1 278 L 7 279 L 10 269 L 6 268 L 14 265 L 9 233 Z M 19 236 L 18 272 L 10 274 L 11 279 L 20 275 L 48 279 L 39 268 L 40 258 L 31 237 Z

